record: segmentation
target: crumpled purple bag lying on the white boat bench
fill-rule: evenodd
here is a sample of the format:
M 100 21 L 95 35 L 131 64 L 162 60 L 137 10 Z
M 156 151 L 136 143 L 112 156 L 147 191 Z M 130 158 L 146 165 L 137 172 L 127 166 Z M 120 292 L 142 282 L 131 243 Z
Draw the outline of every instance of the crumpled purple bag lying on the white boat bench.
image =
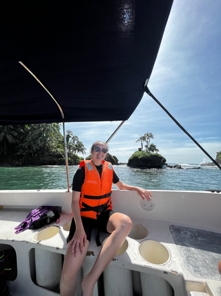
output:
M 38 209 L 30 211 L 28 216 L 17 227 L 15 227 L 15 229 L 17 229 L 15 234 L 19 234 L 20 232 L 30 228 L 35 221 L 39 220 L 39 218 L 48 213 L 48 211 L 55 211 L 55 207 L 41 206 Z

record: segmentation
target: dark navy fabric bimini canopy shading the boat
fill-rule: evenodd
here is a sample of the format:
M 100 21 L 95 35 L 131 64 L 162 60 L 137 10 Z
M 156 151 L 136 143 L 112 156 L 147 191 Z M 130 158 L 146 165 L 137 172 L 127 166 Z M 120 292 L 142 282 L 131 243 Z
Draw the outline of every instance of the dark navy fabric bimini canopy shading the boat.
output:
M 127 120 L 173 0 L 4 1 L 0 124 Z M 48 92 L 19 62 L 22 62 Z

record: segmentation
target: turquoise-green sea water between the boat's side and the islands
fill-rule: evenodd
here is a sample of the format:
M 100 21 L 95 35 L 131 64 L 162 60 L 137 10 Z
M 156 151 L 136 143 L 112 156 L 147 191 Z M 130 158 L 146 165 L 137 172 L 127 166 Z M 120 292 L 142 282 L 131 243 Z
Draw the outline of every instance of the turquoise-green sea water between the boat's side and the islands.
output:
M 184 168 L 199 165 L 182 164 Z M 78 166 L 69 166 L 70 184 Z M 140 169 L 114 166 L 122 182 L 156 190 L 221 190 L 221 171 L 216 167 L 200 169 Z M 117 187 L 113 185 L 113 189 Z M 0 190 L 67 189 L 65 166 L 0 167 Z

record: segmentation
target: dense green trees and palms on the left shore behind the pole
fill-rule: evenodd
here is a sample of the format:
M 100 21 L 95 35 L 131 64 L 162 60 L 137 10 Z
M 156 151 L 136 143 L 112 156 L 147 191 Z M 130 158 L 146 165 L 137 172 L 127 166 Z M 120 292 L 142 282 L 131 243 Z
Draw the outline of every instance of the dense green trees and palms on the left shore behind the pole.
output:
M 0 125 L 0 164 L 12 166 L 65 164 L 64 137 L 59 123 Z M 77 136 L 66 132 L 68 164 L 79 164 L 86 148 Z

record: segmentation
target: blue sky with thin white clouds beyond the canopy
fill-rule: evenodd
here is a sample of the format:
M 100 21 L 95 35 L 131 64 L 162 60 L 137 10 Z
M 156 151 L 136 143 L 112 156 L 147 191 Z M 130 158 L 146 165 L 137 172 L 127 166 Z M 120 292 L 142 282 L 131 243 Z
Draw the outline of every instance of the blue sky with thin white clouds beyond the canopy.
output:
M 220 0 L 174 0 L 148 82 L 151 93 L 213 159 L 221 150 L 220 13 Z M 66 130 L 84 143 L 86 157 L 93 142 L 106 141 L 120 123 L 66 123 Z M 108 143 L 109 153 L 128 162 L 146 132 L 152 132 L 151 143 L 168 164 L 211 162 L 147 94 Z

